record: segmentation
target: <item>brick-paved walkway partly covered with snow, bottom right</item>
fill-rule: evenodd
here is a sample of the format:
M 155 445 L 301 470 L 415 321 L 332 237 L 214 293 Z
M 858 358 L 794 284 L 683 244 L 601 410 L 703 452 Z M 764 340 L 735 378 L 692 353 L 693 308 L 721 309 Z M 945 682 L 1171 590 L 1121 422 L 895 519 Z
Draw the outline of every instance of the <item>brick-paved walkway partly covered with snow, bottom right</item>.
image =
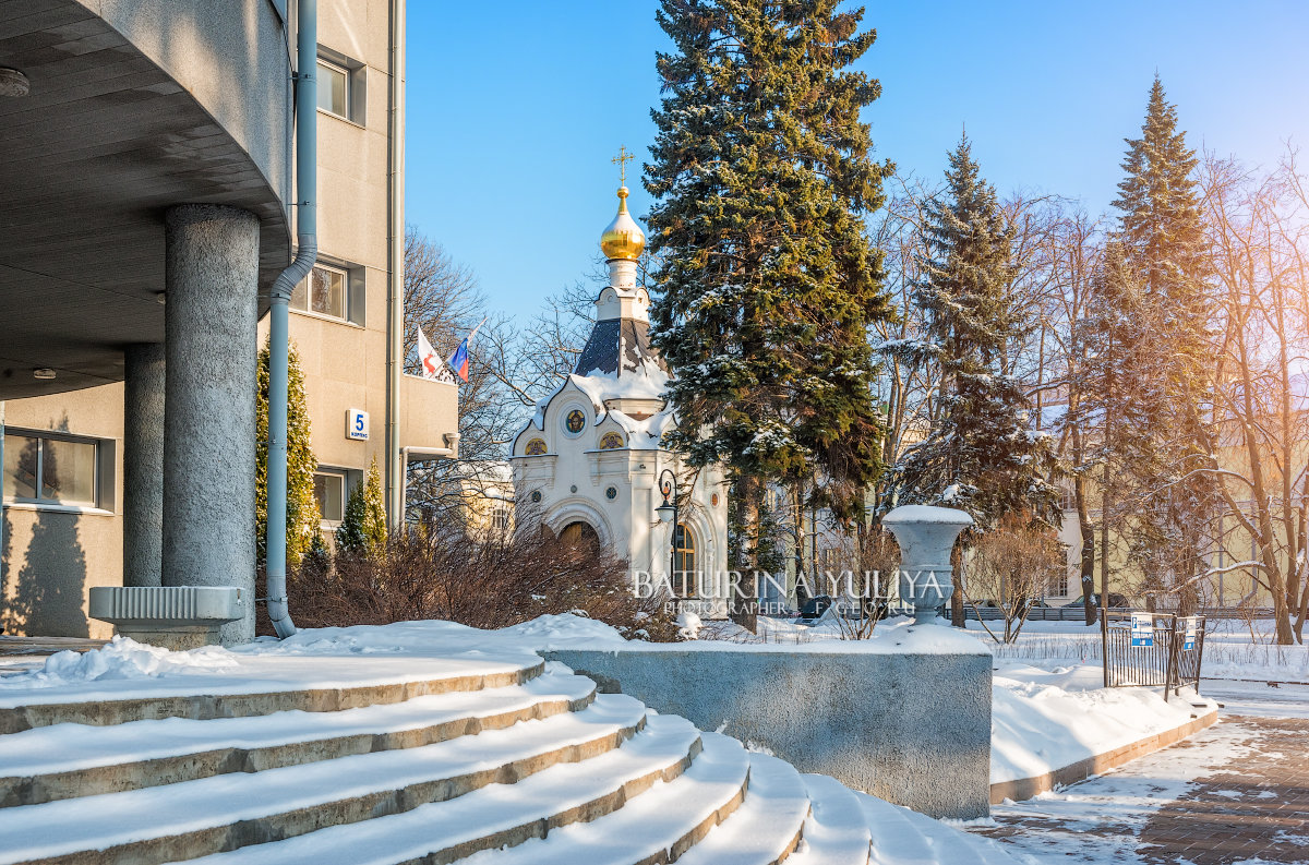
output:
M 996 806 L 973 831 L 1042 864 L 1309 864 L 1309 688 L 1244 696 L 1187 742 Z

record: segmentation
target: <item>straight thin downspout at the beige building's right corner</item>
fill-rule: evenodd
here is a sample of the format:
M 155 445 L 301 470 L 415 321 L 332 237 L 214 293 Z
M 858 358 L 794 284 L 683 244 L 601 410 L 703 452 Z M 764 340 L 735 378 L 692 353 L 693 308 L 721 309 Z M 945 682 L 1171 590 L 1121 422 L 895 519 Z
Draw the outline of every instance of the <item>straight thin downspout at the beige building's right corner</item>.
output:
M 404 475 L 401 453 L 401 373 L 404 365 L 404 1 L 391 0 L 391 77 L 387 115 L 390 213 L 387 256 L 391 279 L 386 306 L 386 512 L 391 530 L 404 526 Z

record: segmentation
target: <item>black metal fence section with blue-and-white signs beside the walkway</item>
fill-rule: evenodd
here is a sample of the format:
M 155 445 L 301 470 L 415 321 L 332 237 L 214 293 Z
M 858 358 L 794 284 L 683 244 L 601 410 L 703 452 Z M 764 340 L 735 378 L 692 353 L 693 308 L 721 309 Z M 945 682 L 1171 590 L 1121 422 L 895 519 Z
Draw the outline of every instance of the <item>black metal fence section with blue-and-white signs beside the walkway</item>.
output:
M 1149 628 L 1138 632 L 1148 645 L 1132 645 L 1132 612 L 1106 611 L 1105 684 L 1113 688 L 1161 687 L 1165 697 L 1183 684 L 1200 690 L 1200 663 L 1204 660 L 1204 616 L 1191 616 L 1194 632 L 1187 636 L 1185 616 L 1138 612 L 1148 616 Z

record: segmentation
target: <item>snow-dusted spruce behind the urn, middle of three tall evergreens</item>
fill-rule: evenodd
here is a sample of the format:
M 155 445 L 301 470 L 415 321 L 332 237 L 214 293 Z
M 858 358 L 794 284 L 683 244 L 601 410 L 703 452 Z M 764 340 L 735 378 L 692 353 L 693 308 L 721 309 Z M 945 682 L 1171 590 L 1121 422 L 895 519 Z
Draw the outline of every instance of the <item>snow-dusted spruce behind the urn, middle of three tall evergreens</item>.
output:
M 1009 512 L 1058 526 L 1050 438 L 1034 432 L 1022 385 L 1003 364 L 1025 325 L 1005 292 L 1013 232 L 966 137 L 949 154 L 945 179 L 944 195 L 927 203 L 929 255 L 914 293 L 927 330 L 897 349 L 937 364 L 941 387 L 931 432 L 894 467 L 889 504 L 959 508 L 978 531 Z

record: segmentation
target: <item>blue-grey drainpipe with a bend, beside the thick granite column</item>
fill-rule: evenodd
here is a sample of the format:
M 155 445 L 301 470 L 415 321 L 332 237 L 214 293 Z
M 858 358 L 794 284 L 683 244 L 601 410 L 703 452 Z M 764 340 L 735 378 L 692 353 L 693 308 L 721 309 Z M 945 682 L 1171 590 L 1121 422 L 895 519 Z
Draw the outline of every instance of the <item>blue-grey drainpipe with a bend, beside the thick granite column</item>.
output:
M 287 310 L 318 258 L 318 0 L 298 0 L 296 30 L 296 258 L 272 284 L 268 313 L 268 618 L 283 640 L 296 633 L 287 605 Z

